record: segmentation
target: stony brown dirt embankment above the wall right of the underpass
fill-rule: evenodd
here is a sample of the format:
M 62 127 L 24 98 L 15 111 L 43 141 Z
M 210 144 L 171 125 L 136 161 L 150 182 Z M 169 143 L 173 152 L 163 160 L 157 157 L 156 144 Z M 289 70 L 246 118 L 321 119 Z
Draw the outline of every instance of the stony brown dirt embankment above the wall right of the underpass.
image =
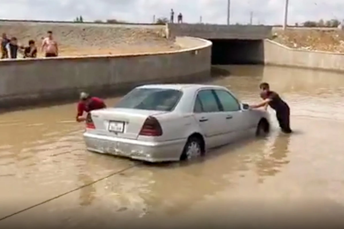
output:
M 273 33 L 274 41 L 290 48 L 344 53 L 343 30 L 289 29 Z

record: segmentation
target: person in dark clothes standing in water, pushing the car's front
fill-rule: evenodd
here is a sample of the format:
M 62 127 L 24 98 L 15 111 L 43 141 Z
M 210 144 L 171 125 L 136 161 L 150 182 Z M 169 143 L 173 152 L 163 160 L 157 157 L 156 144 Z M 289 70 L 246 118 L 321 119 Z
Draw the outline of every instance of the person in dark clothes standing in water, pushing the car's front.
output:
M 260 97 L 263 102 L 251 105 L 251 108 L 265 107 L 269 105 L 273 110 L 276 111 L 276 117 L 281 130 L 284 133 L 290 134 L 292 130 L 290 129 L 290 108 L 286 102 L 284 102 L 280 96 L 274 92 L 270 91 L 270 86 L 268 83 L 261 83 L 259 85 L 261 89 Z

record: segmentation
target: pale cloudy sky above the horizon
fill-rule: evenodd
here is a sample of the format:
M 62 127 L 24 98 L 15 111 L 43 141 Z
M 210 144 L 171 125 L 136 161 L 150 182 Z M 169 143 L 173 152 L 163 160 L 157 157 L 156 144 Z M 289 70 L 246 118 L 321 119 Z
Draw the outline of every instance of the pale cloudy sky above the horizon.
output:
M 282 24 L 285 0 L 230 0 L 230 23 Z M 117 19 L 150 23 L 169 17 L 171 8 L 187 23 L 226 24 L 227 0 L 0 0 L 0 19 Z M 344 0 L 289 0 L 288 24 L 307 20 L 344 19 Z

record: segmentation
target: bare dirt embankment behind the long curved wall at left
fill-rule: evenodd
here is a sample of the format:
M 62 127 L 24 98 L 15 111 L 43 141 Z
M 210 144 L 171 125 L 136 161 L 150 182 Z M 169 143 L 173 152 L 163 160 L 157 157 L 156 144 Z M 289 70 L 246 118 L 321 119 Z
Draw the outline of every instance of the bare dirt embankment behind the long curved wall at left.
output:
M 0 23 L 0 33 L 15 36 L 26 45 L 34 39 L 40 47 L 47 31 L 59 45 L 60 56 L 132 54 L 180 49 L 165 38 L 163 26 Z M 39 52 L 39 56 L 43 56 Z

